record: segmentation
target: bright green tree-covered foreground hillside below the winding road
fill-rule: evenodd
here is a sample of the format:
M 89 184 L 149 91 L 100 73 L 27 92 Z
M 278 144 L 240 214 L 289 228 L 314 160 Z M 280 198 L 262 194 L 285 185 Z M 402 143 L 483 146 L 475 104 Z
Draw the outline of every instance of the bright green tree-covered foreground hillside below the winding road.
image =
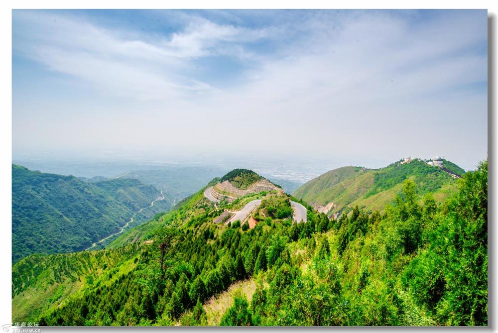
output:
M 441 204 L 405 179 L 383 214 L 329 220 L 308 206 L 308 222 L 275 213 L 253 229 L 213 222 L 253 197 L 217 207 L 203 189 L 122 247 L 14 264 L 12 320 L 206 325 L 209 299 L 244 280 L 255 288 L 215 324 L 487 325 L 488 163 L 457 183 Z M 273 200 L 257 214 L 270 206 L 287 209 Z

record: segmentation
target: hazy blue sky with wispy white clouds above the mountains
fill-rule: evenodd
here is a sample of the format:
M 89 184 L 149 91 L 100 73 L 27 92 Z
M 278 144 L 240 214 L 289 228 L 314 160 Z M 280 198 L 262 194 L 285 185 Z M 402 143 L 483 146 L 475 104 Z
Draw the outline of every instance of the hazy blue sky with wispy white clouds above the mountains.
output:
M 12 154 L 488 151 L 486 10 L 12 10 Z

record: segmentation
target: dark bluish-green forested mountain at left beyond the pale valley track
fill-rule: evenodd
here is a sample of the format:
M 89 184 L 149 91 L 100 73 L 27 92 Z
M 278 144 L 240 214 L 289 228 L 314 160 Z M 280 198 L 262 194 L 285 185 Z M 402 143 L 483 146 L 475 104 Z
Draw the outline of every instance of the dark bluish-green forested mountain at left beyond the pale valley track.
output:
M 12 165 L 12 261 L 31 253 L 82 250 L 120 230 L 133 212 L 160 196 L 135 179 L 86 183 Z M 157 202 L 135 223 L 167 210 Z

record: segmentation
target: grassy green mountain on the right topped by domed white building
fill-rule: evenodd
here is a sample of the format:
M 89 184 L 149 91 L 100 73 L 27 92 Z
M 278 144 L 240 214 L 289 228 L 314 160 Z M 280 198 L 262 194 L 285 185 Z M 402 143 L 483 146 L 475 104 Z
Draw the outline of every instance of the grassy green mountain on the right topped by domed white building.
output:
M 445 161 L 451 171 L 462 169 Z M 454 171 L 455 172 L 455 171 Z M 462 173 L 463 174 L 463 173 Z M 421 160 L 397 161 L 381 169 L 344 167 L 331 170 L 297 189 L 293 195 L 330 216 L 349 213 L 355 206 L 382 211 L 401 190 L 404 180 L 417 184 L 417 193 L 435 193 L 438 202 L 456 190 L 456 180 L 440 168 Z

